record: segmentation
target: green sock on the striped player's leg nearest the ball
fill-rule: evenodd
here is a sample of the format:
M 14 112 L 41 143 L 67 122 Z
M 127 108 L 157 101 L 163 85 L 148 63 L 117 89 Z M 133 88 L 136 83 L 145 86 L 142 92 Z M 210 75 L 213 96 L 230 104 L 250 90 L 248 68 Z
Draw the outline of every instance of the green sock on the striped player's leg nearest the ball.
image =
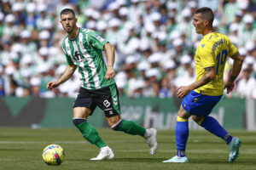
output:
M 90 144 L 96 144 L 98 148 L 106 146 L 100 135 L 97 133 L 95 127 L 91 126 L 89 122 L 81 122 L 76 125 L 79 131 L 83 134 L 84 139 L 87 139 Z

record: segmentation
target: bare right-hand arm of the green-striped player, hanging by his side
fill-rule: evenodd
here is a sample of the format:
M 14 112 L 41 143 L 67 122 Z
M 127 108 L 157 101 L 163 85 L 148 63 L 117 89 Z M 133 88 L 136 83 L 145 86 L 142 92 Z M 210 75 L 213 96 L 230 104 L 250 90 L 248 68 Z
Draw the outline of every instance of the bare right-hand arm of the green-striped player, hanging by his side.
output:
M 113 70 L 113 64 L 114 64 L 114 47 L 107 42 L 104 45 L 104 50 L 107 55 L 107 71 L 105 77 L 109 80 L 115 76 L 115 71 Z

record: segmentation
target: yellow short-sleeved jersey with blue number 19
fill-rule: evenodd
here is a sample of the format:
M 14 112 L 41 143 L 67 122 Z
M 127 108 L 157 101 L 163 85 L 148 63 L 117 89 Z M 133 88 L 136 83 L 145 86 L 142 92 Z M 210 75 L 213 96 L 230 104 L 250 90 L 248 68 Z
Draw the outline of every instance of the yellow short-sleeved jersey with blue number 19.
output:
M 216 77 L 204 86 L 196 88 L 195 92 L 211 96 L 222 95 L 224 92 L 224 66 L 227 57 L 236 53 L 236 46 L 224 34 L 211 32 L 204 36 L 195 52 L 196 81 L 206 74 L 205 68 L 210 66 L 215 66 Z

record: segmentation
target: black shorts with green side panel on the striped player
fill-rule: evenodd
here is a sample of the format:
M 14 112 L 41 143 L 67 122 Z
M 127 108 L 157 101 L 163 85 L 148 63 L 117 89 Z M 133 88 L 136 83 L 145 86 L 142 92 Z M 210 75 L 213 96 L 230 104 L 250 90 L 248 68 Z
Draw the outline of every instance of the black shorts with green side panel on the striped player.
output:
M 120 114 L 119 92 L 115 84 L 94 90 L 86 88 L 79 89 L 79 95 L 74 101 L 73 108 L 90 108 L 90 115 L 92 115 L 96 106 L 99 106 L 107 117 Z

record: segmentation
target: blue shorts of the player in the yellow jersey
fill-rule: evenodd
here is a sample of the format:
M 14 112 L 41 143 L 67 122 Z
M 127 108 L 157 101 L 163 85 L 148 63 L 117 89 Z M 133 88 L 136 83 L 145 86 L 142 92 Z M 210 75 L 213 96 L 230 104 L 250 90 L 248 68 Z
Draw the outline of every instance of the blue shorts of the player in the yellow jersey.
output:
M 189 115 L 207 116 L 212 112 L 213 107 L 218 104 L 221 97 L 222 95 L 209 96 L 197 94 L 192 90 L 183 99 L 182 105 Z

